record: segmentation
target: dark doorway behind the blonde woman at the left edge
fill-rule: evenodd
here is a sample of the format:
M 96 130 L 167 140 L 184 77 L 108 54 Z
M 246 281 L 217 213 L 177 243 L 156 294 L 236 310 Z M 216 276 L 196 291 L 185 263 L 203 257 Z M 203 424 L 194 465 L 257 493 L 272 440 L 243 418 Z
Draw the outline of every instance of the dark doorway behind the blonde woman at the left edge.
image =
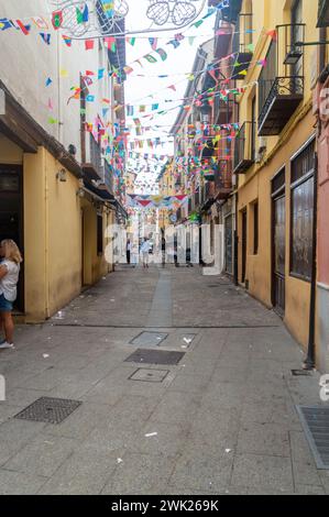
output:
M 0 241 L 12 239 L 24 257 L 23 168 L 0 164 Z M 21 267 L 14 309 L 24 312 L 24 267 Z

